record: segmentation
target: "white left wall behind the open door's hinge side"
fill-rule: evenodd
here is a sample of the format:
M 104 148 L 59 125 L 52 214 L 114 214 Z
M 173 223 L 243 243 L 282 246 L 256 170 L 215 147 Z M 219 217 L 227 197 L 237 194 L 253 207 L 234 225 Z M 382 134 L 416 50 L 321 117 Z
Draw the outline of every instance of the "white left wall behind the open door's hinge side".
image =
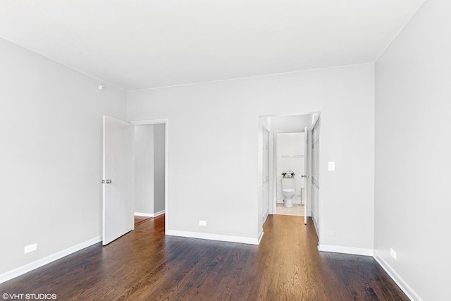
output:
M 126 94 L 4 39 L 0 66 L 1 276 L 100 239 L 102 115 Z

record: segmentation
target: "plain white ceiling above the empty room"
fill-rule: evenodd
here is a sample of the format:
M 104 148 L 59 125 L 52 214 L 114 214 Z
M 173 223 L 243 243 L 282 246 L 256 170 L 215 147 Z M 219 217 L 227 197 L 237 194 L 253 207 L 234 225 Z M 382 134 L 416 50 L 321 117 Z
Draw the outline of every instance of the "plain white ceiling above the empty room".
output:
M 0 0 L 0 37 L 123 90 L 376 61 L 424 0 Z

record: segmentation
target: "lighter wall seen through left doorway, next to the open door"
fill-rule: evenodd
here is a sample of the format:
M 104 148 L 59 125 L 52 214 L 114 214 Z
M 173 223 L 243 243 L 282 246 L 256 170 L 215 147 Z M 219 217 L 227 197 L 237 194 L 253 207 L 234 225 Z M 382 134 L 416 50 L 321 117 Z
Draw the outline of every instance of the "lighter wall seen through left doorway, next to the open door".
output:
M 135 125 L 134 211 L 154 214 L 154 125 Z

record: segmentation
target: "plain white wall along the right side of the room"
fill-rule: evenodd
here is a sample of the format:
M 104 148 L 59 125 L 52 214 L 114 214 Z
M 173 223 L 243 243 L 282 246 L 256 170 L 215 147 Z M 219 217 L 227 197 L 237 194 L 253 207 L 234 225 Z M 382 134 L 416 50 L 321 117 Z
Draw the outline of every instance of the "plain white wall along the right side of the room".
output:
M 375 253 L 414 300 L 451 300 L 450 11 L 425 1 L 376 62 Z

